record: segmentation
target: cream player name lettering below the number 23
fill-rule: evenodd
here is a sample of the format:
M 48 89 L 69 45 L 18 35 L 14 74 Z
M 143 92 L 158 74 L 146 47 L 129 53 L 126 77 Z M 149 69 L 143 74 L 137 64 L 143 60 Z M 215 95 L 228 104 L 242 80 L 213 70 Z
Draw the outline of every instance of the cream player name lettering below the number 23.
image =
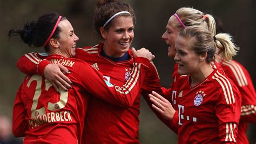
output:
M 31 128 L 42 126 L 50 122 L 58 121 L 72 121 L 70 111 L 51 112 L 43 115 L 36 116 L 29 120 Z

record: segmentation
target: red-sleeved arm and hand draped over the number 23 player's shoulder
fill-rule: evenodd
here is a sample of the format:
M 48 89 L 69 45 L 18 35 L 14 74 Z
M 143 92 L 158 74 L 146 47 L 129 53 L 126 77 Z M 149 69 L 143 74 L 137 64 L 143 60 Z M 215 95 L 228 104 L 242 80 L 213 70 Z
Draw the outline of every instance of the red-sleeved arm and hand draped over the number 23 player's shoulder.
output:
M 63 73 L 69 73 L 68 68 L 61 64 L 51 64 L 44 59 L 46 54 L 28 53 L 19 58 L 17 62 L 18 69 L 25 74 L 40 74 L 50 81 L 56 91 L 59 88 L 68 90 L 72 82 Z

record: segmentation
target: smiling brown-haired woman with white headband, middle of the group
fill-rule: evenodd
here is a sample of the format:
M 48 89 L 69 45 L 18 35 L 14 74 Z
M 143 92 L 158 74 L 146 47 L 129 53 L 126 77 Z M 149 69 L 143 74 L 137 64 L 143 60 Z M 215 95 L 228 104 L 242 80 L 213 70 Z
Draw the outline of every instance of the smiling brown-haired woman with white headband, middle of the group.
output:
M 127 3 L 98 1 L 94 23 L 104 43 L 77 48 L 75 58 L 86 61 L 102 72 L 108 83 L 122 86 L 130 77 L 134 77 L 131 74 L 134 59 L 130 50 L 134 37 L 133 9 Z M 53 64 L 49 64 L 47 60 L 43 60 L 43 63 L 32 63 L 33 56 L 44 58 L 37 53 L 23 56 L 17 64 L 22 72 L 45 74 L 46 79 L 53 77 L 49 78 L 50 81 L 54 81 L 53 85 L 63 84 L 69 87 L 69 84 L 62 80 L 63 74 L 59 77 L 56 72 L 52 72 Z M 24 65 L 24 63 L 30 65 Z M 55 76 L 52 75 L 57 75 L 57 80 L 54 80 Z M 149 99 L 147 97 L 149 92 L 161 92 L 159 77 L 153 64 L 147 70 L 142 90 L 147 99 Z M 137 96 L 130 100 L 130 105 L 126 108 L 113 105 L 114 102 L 109 103 L 92 97 L 85 119 L 84 143 L 139 143 L 140 92 Z

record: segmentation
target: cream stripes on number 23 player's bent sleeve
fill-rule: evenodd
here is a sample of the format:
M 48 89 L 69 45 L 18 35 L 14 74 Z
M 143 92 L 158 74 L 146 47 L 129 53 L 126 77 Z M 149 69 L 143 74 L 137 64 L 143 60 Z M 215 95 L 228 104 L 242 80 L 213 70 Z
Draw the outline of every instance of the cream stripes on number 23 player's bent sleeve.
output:
M 117 92 L 121 94 L 127 94 L 132 90 L 132 88 L 134 87 L 134 85 L 136 85 L 138 81 L 141 65 L 142 64 L 133 63 L 132 76 L 126 81 L 123 87 L 115 86 Z

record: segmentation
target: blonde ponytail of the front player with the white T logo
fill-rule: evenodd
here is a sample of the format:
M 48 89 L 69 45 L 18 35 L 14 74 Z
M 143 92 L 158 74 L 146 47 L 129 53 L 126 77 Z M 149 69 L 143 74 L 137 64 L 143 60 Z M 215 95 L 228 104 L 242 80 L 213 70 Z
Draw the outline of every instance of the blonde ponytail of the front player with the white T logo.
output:
M 237 55 L 239 47 L 233 43 L 233 39 L 228 33 L 219 33 L 216 37 L 216 45 L 220 51 L 217 53 L 223 53 L 223 59 L 229 61 L 233 56 Z

